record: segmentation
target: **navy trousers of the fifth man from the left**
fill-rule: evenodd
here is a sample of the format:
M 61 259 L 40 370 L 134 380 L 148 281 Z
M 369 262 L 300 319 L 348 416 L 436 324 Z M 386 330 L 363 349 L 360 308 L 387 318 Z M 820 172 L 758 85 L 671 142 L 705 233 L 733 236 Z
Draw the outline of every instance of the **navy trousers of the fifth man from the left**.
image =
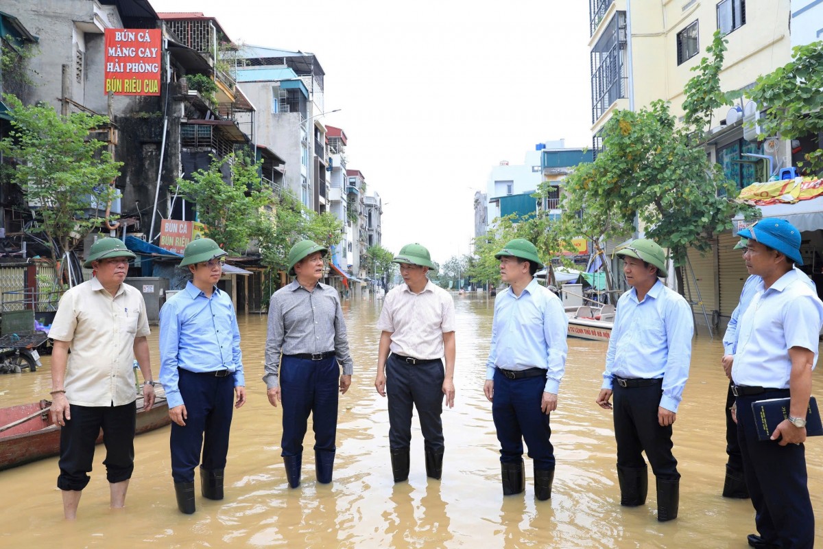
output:
M 534 468 L 555 468 L 555 449 L 551 445 L 549 415 L 541 410 L 546 377 L 509 379 L 495 370 L 495 398 L 491 416 L 500 440 L 500 462 L 520 463 L 523 440 Z

